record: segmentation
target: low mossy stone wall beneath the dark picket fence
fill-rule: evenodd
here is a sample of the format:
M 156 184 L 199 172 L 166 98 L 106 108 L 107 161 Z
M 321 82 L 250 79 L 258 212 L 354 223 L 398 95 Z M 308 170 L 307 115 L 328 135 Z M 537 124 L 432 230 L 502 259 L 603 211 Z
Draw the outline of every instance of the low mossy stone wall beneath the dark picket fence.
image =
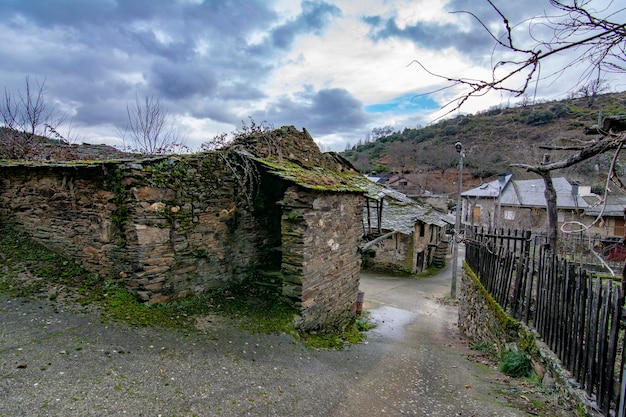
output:
M 504 311 L 466 262 L 461 288 L 459 328 L 466 336 L 476 344 L 493 346 L 499 352 L 514 345 L 532 358 L 536 371 L 549 373 L 565 401 L 574 408 L 584 407 L 590 412 L 584 391 L 568 382 L 571 376 L 561 368 L 554 353 L 537 339 L 532 329 Z

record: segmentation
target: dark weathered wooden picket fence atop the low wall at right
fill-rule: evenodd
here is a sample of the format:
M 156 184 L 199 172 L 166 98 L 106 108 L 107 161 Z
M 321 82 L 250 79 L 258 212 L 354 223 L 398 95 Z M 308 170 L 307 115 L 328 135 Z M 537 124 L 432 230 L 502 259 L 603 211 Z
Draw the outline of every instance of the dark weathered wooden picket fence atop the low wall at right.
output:
M 465 233 L 466 262 L 494 299 L 539 333 L 604 415 L 626 415 L 623 390 L 614 394 L 624 362 L 619 285 L 559 258 L 530 232 Z

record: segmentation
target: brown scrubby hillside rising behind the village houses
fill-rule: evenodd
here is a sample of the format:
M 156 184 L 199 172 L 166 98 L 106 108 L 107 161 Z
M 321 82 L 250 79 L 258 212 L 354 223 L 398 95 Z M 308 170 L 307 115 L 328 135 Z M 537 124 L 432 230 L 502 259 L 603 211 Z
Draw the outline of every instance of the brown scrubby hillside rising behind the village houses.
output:
M 590 103 L 591 102 L 591 103 Z M 511 163 L 539 163 L 545 153 L 553 161 L 568 155 L 546 151 L 540 145 L 588 141 L 585 127 L 604 116 L 626 114 L 626 92 L 574 98 L 518 107 L 496 107 L 473 115 L 458 115 L 418 129 L 405 129 L 342 152 L 361 172 L 403 173 L 409 181 L 435 193 L 456 190 L 458 154 L 466 149 L 464 189 L 481 179 L 510 171 Z M 603 187 L 612 155 L 600 155 L 584 164 L 556 171 L 570 181 Z M 626 160 L 623 161 L 626 163 Z M 517 178 L 531 178 L 513 170 Z M 467 187 L 466 187 L 467 185 Z

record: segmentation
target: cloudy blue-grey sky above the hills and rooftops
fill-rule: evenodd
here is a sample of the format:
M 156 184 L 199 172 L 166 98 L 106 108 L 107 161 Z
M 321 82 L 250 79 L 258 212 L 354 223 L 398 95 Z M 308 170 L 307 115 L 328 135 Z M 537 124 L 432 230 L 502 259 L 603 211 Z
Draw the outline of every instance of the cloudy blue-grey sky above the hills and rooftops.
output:
M 512 22 L 551 11 L 548 0 L 495 3 Z M 481 0 L 0 0 L 0 88 L 45 82 L 84 142 L 121 145 L 127 105 L 152 96 L 192 149 L 251 118 L 343 150 L 375 127 L 426 125 L 458 94 L 433 93 L 445 84 L 411 62 L 489 76 L 493 40 L 459 10 L 500 33 Z M 538 97 L 565 98 L 579 76 L 547 80 Z M 623 76 L 610 85 L 626 89 Z M 493 94 L 462 111 L 519 101 Z

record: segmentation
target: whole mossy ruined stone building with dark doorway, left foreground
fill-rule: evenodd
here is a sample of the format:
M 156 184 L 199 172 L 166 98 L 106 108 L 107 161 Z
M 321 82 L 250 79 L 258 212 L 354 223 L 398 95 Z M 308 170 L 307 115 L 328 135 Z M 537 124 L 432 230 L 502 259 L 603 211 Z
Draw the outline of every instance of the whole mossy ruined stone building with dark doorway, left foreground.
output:
M 305 330 L 355 315 L 361 177 L 293 127 L 142 160 L 0 162 L 0 222 L 160 303 L 272 277 Z

